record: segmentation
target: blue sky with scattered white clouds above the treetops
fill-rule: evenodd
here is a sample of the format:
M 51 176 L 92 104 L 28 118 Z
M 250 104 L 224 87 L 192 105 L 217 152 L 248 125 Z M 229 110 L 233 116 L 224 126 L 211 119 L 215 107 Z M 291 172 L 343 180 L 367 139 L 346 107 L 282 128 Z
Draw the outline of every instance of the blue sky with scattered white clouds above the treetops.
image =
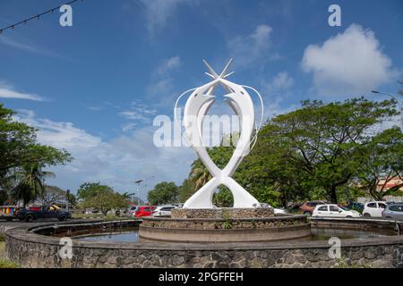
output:
M 3 0 L 0 27 L 63 3 Z M 341 27 L 328 24 L 330 4 Z M 60 15 L 0 35 L 0 101 L 41 129 L 39 141 L 73 154 L 48 180 L 73 191 L 84 181 L 133 191 L 148 179 L 144 198 L 187 177 L 195 155 L 155 147 L 152 120 L 208 80 L 203 58 L 220 70 L 234 57 L 231 80 L 257 88 L 267 116 L 308 98 L 375 98 L 371 89 L 393 93 L 403 79 L 399 0 L 85 0 L 73 27 Z

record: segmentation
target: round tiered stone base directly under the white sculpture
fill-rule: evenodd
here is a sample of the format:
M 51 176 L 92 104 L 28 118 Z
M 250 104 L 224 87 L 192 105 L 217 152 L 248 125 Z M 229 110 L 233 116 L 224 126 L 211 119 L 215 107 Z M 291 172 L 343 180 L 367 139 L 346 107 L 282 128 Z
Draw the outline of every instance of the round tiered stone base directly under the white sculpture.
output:
M 305 215 L 274 216 L 270 208 L 175 209 L 170 218 L 144 217 L 139 229 L 141 239 L 170 242 L 258 242 L 309 235 Z

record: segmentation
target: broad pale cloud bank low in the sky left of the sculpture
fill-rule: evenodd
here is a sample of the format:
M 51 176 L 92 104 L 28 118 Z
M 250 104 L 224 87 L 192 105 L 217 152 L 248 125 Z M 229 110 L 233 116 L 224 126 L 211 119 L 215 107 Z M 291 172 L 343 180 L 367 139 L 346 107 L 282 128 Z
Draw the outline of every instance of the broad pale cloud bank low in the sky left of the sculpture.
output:
M 133 130 L 105 140 L 82 130 L 72 122 L 53 122 L 40 119 L 33 112 L 22 110 L 16 120 L 39 128 L 42 144 L 65 148 L 74 157 L 70 164 L 49 168 L 56 179 L 48 183 L 75 191 L 85 181 L 101 181 L 119 191 L 133 191 L 135 179 L 150 179 L 148 189 L 159 181 L 180 183 L 187 177 L 193 162 L 192 150 L 184 147 L 155 147 L 153 128 Z M 141 198 L 145 198 L 143 190 Z

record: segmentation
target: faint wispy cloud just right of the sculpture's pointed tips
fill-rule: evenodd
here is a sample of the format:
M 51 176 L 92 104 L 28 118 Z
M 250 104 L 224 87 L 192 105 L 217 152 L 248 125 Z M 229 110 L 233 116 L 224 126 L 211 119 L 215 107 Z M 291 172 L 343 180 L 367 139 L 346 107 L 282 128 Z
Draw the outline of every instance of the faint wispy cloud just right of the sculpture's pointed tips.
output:
M 259 25 L 249 35 L 239 35 L 227 41 L 227 48 L 231 57 L 241 65 L 252 64 L 267 54 L 270 47 L 270 33 L 272 29 L 268 25 Z

